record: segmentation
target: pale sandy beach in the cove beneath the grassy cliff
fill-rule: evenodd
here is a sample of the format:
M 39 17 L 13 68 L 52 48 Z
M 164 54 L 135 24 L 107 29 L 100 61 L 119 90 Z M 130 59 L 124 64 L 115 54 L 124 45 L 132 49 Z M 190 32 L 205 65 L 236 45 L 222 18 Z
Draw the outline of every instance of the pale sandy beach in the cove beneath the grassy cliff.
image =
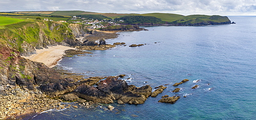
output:
M 34 61 L 34 62 L 44 63 L 49 68 L 52 68 L 61 59 L 61 57 L 64 54 L 64 51 L 68 49 L 75 49 L 75 48 L 62 46 L 62 45 L 52 46 L 47 49 L 45 48 L 36 49 L 36 54 L 33 54 L 28 57 L 26 56 L 22 56 L 22 57 L 30 59 L 31 61 Z

